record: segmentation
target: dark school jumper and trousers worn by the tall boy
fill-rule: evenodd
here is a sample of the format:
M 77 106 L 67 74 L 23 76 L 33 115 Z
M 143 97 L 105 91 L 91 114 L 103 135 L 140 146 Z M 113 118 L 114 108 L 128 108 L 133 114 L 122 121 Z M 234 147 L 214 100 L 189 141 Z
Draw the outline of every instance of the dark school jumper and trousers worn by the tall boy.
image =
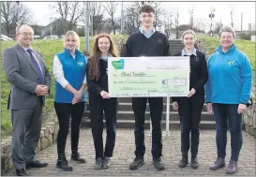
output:
M 125 57 L 138 56 L 170 56 L 170 45 L 168 38 L 152 31 L 147 36 L 142 32 L 131 34 L 126 44 Z M 161 137 L 161 116 L 163 110 L 162 97 L 132 97 L 132 109 L 135 115 L 135 155 L 143 157 L 145 153 L 144 145 L 144 113 L 147 99 L 150 106 L 150 116 L 152 121 L 152 156 L 158 159 L 162 155 Z

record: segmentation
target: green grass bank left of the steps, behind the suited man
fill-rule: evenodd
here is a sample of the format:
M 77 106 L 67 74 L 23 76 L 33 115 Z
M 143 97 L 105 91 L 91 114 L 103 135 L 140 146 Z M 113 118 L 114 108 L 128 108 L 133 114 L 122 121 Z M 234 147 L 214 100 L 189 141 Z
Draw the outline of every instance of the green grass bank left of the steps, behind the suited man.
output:
M 125 38 L 127 36 L 113 36 L 116 38 Z M 84 37 L 81 37 L 81 46 L 80 49 L 83 52 L 84 49 Z M 90 48 L 92 47 L 92 43 L 94 41 L 94 37 L 90 37 L 89 44 Z M 1 41 L 1 59 L 3 61 L 3 52 L 8 48 L 16 44 L 16 41 Z M 63 40 L 62 39 L 48 39 L 48 40 L 35 40 L 32 46 L 33 49 L 38 50 L 42 53 L 46 66 L 49 69 L 52 75 L 52 88 L 51 94 L 46 97 L 46 105 L 43 109 L 43 114 L 47 116 L 47 112 L 53 112 L 53 94 L 54 94 L 54 79 L 53 79 L 53 56 L 57 52 L 62 52 L 64 50 Z M 91 51 L 91 50 L 90 50 Z M 1 64 L 1 137 L 10 135 L 12 127 L 11 127 L 11 118 L 10 111 L 7 110 L 8 105 L 8 95 L 10 91 L 10 85 L 6 80 L 5 72 L 3 69 L 3 63 Z M 25 101 L 25 100 L 24 100 Z

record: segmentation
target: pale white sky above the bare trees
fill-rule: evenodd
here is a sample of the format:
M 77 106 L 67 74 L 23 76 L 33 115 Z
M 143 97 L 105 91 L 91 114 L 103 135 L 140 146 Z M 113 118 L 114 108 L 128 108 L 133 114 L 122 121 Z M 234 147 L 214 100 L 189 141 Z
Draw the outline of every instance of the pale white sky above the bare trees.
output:
M 50 9 L 50 5 L 53 2 L 23 2 L 29 7 L 34 15 L 34 22 L 38 25 L 47 25 L 51 22 L 53 10 Z M 127 6 L 130 2 L 124 2 L 124 6 Z M 189 15 L 188 10 L 194 7 L 194 19 L 203 19 L 203 22 L 210 22 L 209 13 L 214 7 L 215 18 L 213 22 L 221 22 L 224 25 L 231 24 L 231 10 L 233 10 L 233 22 L 237 29 L 241 26 L 241 13 L 243 13 L 243 29 L 248 29 L 248 23 L 255 24 L 255 2 L 161 2 L 160 7 L 164 8 L 167 14 L 175 14 L 177 11 L 180 15 L 180 24 L 188 24 Z M 115 14 L 115 16 L 121 16 L 121 3 Z M 173 20 L 174 21 L 174 20 Z

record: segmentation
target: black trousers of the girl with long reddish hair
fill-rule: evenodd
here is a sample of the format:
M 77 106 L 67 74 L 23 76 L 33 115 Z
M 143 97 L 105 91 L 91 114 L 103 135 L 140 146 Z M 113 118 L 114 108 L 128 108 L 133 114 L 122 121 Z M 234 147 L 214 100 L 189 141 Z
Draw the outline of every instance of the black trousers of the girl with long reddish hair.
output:
M 89 107 L 92 134 L 94 138 L 94 147 L 96 159 L 98 157 L 113 156 L 113 148 L 115 144 L 116 132 L 116 107 L 117 98 L 111 97 L 103 99 L 101 96 L 89 93 Z M 103 152 L 103 111 L 106 120 L 106 144 L 105 152 Z

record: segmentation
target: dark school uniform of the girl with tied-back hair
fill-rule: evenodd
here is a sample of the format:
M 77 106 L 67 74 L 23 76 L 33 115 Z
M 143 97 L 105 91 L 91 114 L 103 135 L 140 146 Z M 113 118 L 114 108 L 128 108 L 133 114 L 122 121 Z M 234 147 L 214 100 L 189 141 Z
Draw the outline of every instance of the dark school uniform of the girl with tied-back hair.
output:
M 174 56 L 188 56 L 183 50 L 177 52 Z M 178 113 L 180 116 L 181 128 L 181 152 L 182 155 L 188 157 L 190 146 L 189 133 L 191 131 L 191 157 L 198 154 L 199 125 L 201 122 L 201 114 L 204 103 L 204 84 L 208 80 L 207 64 L 203 52 L 196 49 L 189 55 L 190 58 L 190 78 L 189 91 L 194 88 L 196 93 L 191 97 L 172 97 L 172 101 L 178 103 Z

